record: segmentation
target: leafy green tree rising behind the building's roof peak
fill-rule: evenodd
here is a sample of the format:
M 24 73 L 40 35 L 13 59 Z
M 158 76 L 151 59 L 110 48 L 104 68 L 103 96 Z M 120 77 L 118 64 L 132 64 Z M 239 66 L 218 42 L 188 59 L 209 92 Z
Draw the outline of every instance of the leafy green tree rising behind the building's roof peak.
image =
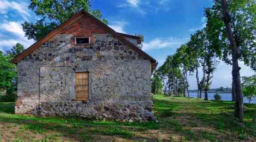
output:
M 28 8 L 42 17 L 36 23 L 25 21 L 22 29 L 28 39 L 35 41 L 43 38 L 61 23 L 73 16 L 75 13 L 84 10 L 107 24 L 107 20 L 102 18 L 99 10 L 91 8 L 91 0 L 31 0 Z

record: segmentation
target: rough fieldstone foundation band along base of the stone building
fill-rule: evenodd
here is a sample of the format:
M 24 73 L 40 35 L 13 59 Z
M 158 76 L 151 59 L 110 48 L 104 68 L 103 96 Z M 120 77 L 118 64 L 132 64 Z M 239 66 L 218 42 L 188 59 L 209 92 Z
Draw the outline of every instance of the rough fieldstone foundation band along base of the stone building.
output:
M 22 102 L 16 104 L 16 113 L 39 116 L 81 116 L 85 118 L 155 120 L 152 101 L 66 101 Z

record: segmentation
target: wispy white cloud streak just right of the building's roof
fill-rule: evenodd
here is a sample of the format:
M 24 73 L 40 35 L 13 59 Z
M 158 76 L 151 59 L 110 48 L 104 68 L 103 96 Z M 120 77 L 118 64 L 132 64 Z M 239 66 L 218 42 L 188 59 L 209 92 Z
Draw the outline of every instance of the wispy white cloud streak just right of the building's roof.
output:
M 142 49 L 152 50 L 152 49 L 160 49 L 160 48 L 177 48 L 180 47 L 181 44 L 186 43 L 188 38 L 176 38 L 176 37 L 169 37 L 169 38 L 155 38 L 149 42 L 144 42 Z

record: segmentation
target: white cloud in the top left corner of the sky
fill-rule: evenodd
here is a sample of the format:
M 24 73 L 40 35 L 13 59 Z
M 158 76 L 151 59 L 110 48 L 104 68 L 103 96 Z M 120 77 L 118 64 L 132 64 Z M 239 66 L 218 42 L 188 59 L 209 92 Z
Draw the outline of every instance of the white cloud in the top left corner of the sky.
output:
M 21 13 L 21 16 L 27 20 L 27 16 L 30 16 L 27 12 L 28 4 L 25 2 L 17 3 L 16 1 L 0 0 L 0 13 L 6 14 L 9 10 L 16 10 Z

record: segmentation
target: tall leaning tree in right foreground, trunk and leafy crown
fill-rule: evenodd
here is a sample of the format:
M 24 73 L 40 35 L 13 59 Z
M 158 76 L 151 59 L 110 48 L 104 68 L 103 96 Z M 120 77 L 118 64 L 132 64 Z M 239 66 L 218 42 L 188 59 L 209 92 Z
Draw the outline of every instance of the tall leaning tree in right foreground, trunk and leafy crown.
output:
M 235 117 L 243 120 L 243 95 L 241 90 L 239 60 L 253 68 L 256 60 L 256 1 L 215 0 L 213 8 L 216 22 L 221 26 L 223 60 L 232 65 L 235 90 Z M 219 28 L 218 28 L 219 29 Z M 218 30 L 216 29 L 216 30 Z

